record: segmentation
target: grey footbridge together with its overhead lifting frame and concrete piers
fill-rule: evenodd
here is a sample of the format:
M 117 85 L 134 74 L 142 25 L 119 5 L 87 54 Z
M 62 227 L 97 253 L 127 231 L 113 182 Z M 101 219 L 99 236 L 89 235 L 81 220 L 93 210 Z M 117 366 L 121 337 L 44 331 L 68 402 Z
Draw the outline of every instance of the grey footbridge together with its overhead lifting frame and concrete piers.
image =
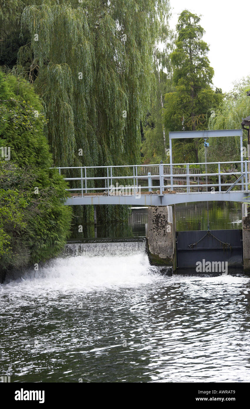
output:
M 208 137 L 228 136 L 239 137 L 241 160 L 208 162 Z M 226 257 L 228 263 L 234 265 L 235 257 L 238 254 L 236 252 L 241 253 L 242 243 L 243 267 L 245 272 L 250 273 L 250 216 L 248 213 L 250 160 L 243 159 L 242 129 L 170 132 L 169 138 L 169 164 L 161 162 L 154 165 L 57 168 L 69 185 L 67 189 L 69 195 L 65 205 L 94 205 L 95 224 L 96 205 L 147 206 L 147 249 L 153 264 L 163 264 L 176 270 L 178 252 L 179 255 L 182 254 L 184 261 L 186 255 L 183 256 L 183 253 L 180 253 L 183 251 L 189 256 L 192 255 L 193 259 L 199 260 L 199 257 L 203 257 L 204 246 L 209 247 L 209 249 L 212 248 L 212 251 L 217 250 L 219 246 L 218 251 L 221 251 L 222 245 L 223 257 Z M 173 163 L 172 139 L 178 138 L 203 138 L 205 162 Z M 188 247 L 186 246 L 187 248 L 182 248 L 181 239 L 176 234 L 174 205 L 214 200 L 244 203 L 242 207 L 242 240 L 241 232 L 239 232 L 238 244 L 236 243 L 235 247 L 224 242 L 225 240 L 220 236 L 222 234 L 220 231 L 210 231 L 209 212 L 207 211 L 208 231 L 194 231 L 195 237 L 192 243 Z M 229 255 L 225 256 L 224 249 L 229 252 Z M 195 251 L 196 255 L 194 256 L 193 252 Z M 233 254 L 231 254 L 232 251 Z M 216 254 L 217 257 L 219 253 Z M 220 255 L 220 257 L 222 256 Z

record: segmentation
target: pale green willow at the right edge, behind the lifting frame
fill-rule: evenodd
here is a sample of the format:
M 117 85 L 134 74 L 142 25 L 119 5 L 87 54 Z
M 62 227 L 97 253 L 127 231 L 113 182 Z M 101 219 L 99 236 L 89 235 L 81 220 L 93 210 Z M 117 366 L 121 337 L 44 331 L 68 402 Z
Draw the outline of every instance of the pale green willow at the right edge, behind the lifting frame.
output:
M 250 115 L 250 77 L 234 84 L 233 90 L 225 95 L 221 105 L 210 116 L 208 129 L 239 129 L 242 118 Z M 247 147 L 247 132 L 243 130 L 243 144 Z M 199 151 L 199 158 L 204 161 L 204 148 Z M 240 137 L 210 138 L 208 148 L 209 162 L 238 161 L 241 158 Z

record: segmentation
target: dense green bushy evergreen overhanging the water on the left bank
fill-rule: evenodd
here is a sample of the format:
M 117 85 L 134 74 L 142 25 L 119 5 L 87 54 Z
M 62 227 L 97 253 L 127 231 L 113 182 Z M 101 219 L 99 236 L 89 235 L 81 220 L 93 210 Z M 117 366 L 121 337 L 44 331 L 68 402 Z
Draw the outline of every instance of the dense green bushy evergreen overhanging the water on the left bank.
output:
M 0 71 L 0 272 L 57 256 L 71 225 L 31 85 Z

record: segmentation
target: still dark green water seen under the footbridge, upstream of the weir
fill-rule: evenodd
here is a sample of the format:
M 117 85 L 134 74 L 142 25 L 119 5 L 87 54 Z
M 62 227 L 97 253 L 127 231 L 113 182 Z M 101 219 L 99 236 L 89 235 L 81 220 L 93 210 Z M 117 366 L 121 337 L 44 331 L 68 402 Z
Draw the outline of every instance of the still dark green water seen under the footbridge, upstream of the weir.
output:
M 241 229 L 242 208 L 237 202 L 209 202 L 210 230 Z M 93 226 L 84 228 L 83 233 L 72 229 L 71 239 L 81 238 L 117 238 L 145 236 L 147 223 L 147 207 L 132 207 L 128 222 L 112 223 L 97 226 L 96 234 Z M 207 230 L 207 203 L 194 202 L 176 205 L 176 230 Z

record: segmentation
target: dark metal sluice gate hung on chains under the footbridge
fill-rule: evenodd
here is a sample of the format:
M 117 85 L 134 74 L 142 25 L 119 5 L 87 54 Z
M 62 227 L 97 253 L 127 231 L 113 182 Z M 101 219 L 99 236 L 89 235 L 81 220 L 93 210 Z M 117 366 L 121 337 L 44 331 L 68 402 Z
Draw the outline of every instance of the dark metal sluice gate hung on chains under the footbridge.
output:
M 202 263 L 203 259 L 227 261 L 228 267 L 242 267 L 242 230 L 211 230 L 211 233 L 217 239 L 212 235 L 205 236 L 206 231 L 176 232 L 178 268 L 196 267 L 197 261 Z M 221 243 L 229 243 L 230 247 L 223 248 Z

